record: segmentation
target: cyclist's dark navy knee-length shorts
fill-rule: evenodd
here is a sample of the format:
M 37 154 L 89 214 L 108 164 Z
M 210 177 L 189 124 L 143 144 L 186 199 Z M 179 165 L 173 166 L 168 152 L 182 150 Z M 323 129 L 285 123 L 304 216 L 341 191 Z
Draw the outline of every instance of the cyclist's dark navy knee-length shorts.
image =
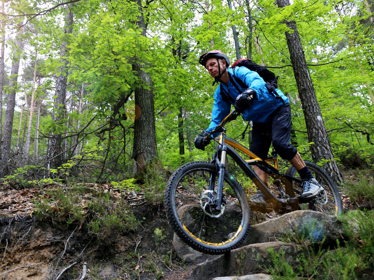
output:
M 267 158 L 270 144 L 282 159 L 293 159 L 297 149 L 291 142 L 291 106 L 280 106 L 271 116 L 270 122 L 254 122 L 252 127 L 251 152 Z

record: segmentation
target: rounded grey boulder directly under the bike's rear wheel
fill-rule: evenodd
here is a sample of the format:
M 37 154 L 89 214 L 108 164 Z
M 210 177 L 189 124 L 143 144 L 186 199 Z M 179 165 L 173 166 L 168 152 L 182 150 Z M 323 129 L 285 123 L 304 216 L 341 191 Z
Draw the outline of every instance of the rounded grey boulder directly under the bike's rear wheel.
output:
M 343 237 L 342 223 L 332 215 L 316 211 L 299 210 L 281 217 L 251 226 L 241 246 L 279 240 L 282 236 L 316 243 L 333 245 Z

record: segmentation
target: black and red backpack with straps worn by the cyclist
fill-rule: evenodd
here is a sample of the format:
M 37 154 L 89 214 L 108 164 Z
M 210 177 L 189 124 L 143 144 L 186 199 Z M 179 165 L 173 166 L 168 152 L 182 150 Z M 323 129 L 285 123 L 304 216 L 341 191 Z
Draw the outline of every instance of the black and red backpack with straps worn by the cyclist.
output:
M 269 71 L 264 66 L 258 65 L 252 59 L 249 59 L 249 58 L 239 59 L 231 65 L 231 68 L 233 69 L 233 75 L 230 75 L 230 80 L 239 93 L 240 93 L 240 89 L 239 87 L 237 87 L 236 83 L 239 84 L 240 87 L 243 87 L 243 88 L 247 87 L 247 85 L 243 83 L 242 80 L 240 80 L 239 78 L 235 76 L 235 68 L 240 67 L 240 66 L 244 66 L 251 71 L 257 72 L 258 75 L 260 75 L 260 77 L 264 79 L 267 90 L 271 94 L 273 94 L 275 98 L 281 99 L 282 103 L 284 104 L 284 100 L 282 99 L 282 97 L 279 96 L 279 94 L 275 91 L 275 89 L 278 88 L 278 77 L 279 76 L 276 77 L 272 71 Z M 232 79 L 234 79 L 236 83 L 234 83 Z M 226 93 L 226 91 L 224 91 L 223 87 L 221 87 L 220 93 L 224 101 L 232 103 L 232 104 L 235 103 L 235 100 L 228 93 Z

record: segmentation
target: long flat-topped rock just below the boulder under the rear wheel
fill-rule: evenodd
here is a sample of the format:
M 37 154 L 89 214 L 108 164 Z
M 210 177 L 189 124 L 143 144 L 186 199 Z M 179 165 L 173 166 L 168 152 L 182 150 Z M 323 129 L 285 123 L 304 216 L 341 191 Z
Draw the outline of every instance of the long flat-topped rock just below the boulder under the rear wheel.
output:
M 296 244 L 284 242 L 267 242 L 251 244 L 235 249 L 208 262 L 198 264 L 193 271 L 193 279 L 206 280 L 215 277 L 230 275 L 247 275 L 263 273 L 261 267 L 269 267 L 269 249 L 275 252 L 284 252 L 286 261 L 292 267 L 296 267 L 296 256 L 301 247 Z

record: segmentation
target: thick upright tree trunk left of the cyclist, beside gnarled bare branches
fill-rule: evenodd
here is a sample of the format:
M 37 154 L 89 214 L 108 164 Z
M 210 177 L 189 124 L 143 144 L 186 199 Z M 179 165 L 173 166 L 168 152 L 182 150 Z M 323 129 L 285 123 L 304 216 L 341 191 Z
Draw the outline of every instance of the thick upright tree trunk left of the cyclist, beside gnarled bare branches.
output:
M 141 0 L 131 0 L 138 4 L 140 15 L 137 25 L 145 34 L 145 24 Z M 142 68 L 143 62 L 132 64 L 132 70 L 142 83 L 135 89 L 135 123 L 134 123 L 134 150 L 132 157 L 136 161 L 135 173 L 144 168 L 146 162 L 157 158 L 156 124 L 154 117 L 153 88 L 150 75 Z

